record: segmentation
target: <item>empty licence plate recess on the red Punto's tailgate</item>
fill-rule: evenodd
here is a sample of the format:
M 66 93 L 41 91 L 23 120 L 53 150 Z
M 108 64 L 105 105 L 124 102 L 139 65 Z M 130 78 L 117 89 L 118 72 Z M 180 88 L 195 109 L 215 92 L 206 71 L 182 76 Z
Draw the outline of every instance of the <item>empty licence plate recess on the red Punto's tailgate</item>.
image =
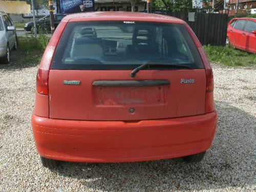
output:
M 155 82 L 155 83 L 154 83 Z M 94 83 L 93 96 L 95 105 L 156 105 L 164 104 L 164 88 L 169 81 L 157 83 Z M 134 84 L 134 86 L 133 86 Z

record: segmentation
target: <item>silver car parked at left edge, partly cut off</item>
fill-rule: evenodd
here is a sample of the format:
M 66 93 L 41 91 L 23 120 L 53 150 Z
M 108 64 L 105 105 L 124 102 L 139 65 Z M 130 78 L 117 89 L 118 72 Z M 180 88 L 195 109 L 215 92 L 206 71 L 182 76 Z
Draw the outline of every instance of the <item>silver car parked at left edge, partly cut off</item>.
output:
M 10 62 L 10 50 L 17 49 L 16 29 L 12 19 L 6 13 L 0 13 L 0 58 L 1 62 Z

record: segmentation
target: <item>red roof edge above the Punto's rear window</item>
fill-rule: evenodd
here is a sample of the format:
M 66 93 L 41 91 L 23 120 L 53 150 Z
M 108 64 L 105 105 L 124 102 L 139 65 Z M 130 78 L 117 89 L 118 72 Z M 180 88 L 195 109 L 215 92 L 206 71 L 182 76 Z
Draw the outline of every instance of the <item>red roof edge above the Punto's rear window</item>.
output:
M 88 12 L 70 14 L 62 19 L 62 22 L 83 22 L 93 20 L 125 20 L 125 21 L 142 21 L 142 22 L 162 22 L 185 24 L 179 18 L 149 13 L 138 12 Z

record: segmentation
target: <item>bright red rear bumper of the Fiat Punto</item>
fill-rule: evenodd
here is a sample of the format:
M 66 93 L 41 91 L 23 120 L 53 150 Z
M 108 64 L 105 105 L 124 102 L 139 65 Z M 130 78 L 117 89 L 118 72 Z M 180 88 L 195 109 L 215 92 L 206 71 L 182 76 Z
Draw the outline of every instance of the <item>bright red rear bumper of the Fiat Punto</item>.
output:
M 59 120 L 32 115 L 38 153 L 77 162 L 131 162 L 197 154 L 211 146 L 216 125 L 216 112 L 139 122 Z

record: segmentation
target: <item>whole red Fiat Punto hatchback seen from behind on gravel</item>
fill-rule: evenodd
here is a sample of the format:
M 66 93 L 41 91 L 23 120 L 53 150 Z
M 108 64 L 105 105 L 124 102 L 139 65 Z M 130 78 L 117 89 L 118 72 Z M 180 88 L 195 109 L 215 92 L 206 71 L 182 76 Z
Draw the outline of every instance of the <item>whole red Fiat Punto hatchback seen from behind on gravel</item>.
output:
M 122 30 L 129 28 L 129 30 Z M 41 162 L 198 162 L 216 131 L 214 79 L 181 19 L 66 16 L 41 59 L 32 115 Z

